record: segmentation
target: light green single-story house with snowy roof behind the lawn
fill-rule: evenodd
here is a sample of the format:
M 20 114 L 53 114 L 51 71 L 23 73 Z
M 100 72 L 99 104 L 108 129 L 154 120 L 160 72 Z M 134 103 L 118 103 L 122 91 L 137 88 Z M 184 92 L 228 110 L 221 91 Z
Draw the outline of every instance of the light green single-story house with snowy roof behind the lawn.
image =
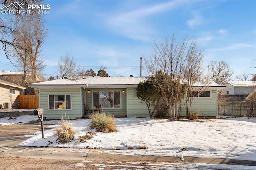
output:
M 142 77 L 86 77 L 76 81 L 57 79 L 33 83 L 30 87 L 39 89 L 39 107 L 44 109 L 46 119 L 60 119 L 65 114 L 70 119 L 80 119 L 85 105 L 89 105 L 92 112 L 100 105 L 101 111 L 114 115 L 149 117 L 146 104 L 136 96 L 136 87 L 144 80 Z M 191 112 L 217 117 L 217 94 L 223 87 L 206 84 L 203 95 L 194 98 Z M 186 116 L 184 108 L 181 116 Z

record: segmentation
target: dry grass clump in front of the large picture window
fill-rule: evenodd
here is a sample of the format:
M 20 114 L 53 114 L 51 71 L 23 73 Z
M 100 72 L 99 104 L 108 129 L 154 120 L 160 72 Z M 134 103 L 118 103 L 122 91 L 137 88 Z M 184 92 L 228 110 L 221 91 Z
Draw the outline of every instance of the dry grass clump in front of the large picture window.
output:
M 106 114 L 105 112 L 95 112 L 89 116 L 91 119 L 90 128 L 96 129 L 96 132 L 103 132 L 103 133 L 112 133 L 118 132 L 116 130 L 115 125 L 116 122 L 114 120 L 113 115 Z

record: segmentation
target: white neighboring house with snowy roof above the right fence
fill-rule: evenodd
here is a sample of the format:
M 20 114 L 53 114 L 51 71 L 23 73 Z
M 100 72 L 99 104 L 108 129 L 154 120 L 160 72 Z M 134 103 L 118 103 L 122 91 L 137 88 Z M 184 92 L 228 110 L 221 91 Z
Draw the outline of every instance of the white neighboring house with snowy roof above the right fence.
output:
M 256 89 L 256 81 L 227 81 L 222 95 L 248 95 Z

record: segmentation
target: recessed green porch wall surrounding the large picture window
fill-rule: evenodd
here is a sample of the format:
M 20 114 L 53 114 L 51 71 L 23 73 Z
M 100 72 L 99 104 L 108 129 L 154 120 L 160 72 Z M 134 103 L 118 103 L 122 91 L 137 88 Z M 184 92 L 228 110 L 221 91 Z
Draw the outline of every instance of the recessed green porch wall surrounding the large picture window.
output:
M 89 89 L 89 88 L 88 88 Z M 114 115 L 126 115 L 126 89 L 92 89 L 90 88 L 90 93 L 88 93 L 88 89 L 85 89 L 86 92 L 86 101 L 85 104 L 89 105 L 89 108 L 93 111 L 93 104 L 92 104 L 92 93 L 93 91 L 121 91 L 121 104 L 122 109 L 116 108 L 116 109 L 108 109 L 104 108 L 101 109 L 101 111 L 104 111 L 105 113 L 111 113 Z M 122 92 L 124 90 L 124 93 Z

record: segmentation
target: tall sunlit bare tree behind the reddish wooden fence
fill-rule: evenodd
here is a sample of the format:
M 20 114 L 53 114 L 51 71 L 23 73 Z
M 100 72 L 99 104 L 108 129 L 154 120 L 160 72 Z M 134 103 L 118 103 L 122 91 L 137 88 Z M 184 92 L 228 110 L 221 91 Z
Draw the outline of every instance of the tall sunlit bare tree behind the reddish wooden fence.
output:
M 20 17 L 13 32 L 14 43 L 20 48 L 12 48 L 12 55 L 17 58 L 16 67 L 23 70 L 22 80 L 25 85 L 38 81 L 38 73 L 43 70 L 44 60 L 40 57 L 40 48 L 47 35 L 42 21 L 29 14 Z M 11 52 L 10 52 L 11 53 Z M 26 77 L 30 77 L 30 81 Z

